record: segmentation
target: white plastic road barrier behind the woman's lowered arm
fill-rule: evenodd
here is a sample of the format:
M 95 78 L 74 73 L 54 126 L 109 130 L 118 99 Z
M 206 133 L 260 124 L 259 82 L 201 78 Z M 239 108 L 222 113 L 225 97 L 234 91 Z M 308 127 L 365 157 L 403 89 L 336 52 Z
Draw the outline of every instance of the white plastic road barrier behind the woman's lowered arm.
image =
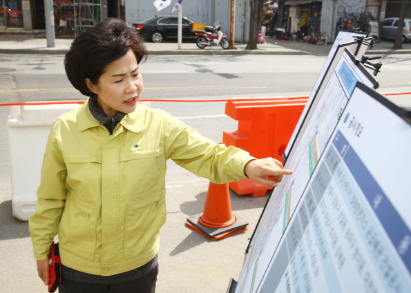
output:
M 7 121 L 12 183 L 12 214 L 28 221 L 35 211 L 41 163 L 52 122 L 79 104 L 15 105 Z

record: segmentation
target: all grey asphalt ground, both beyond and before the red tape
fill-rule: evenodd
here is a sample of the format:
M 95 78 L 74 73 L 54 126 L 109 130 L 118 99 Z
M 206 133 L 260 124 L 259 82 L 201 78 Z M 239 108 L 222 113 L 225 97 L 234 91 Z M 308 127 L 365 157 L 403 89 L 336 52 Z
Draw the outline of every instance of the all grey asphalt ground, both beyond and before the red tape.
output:
M 68 82 L 63 59 L 62 55 L 0 54 L 0 103 L 84 100 Z M 150 57 L 141 65 L 142 99 L 307 96 L 325 59 L 325 56 L 309 55 Z M 383 67 L 377 76 L 379 91 L 411 92 L 411 55 L 388 55 L 381 62 Z M 398 97 L 396 101 L 400 105 L 410 104 L 409 97 Z M 224 115 L 222 102 L 151 102 L 151 107 L 170 112 L 216 142 L 222 140 L 224 130 L 237 129 L 237 121 Z M 6 125 L 8 114 L 8 107 L 0 107 L 1 125 Z M 6 130 L 0 133 L 0 150 L 0 263 L 6 263 L 0 265 L 0 292 L 46 292 L 35 275 L 28 225 L 11 215 Z M 266 197 L 241 198 L 231 194 L 233 210 L 250 221 L 249 231 L 213 243 L 182 226 L 187 215 L 201 212 L 207 181 L 170 163 L 166 182 L 171 202 L 167 202 L 169 218 L 162 230 L 160 257 L 164 266 L 160 269 L 162 281 L 157 292 L 225 292 L 229 276 L 238 276 L 242 252 Z M 181 226 L 177 233 L 173 230 L 175 225 Z

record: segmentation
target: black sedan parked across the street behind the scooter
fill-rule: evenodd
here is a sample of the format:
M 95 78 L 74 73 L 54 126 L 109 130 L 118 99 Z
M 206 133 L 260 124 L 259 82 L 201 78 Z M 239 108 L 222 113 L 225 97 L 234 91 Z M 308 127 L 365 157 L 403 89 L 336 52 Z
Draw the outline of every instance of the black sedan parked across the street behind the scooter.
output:
M 182 18 L 182 41 L 194 41 L 195 32 L 191 32 L 193 21 Z M 151 17 L 145 21 L 133 23 L 138 32 L 146 39 L 154 43 L 162 41 L 177 41 L 178 38 L 178 17 L 174 15 Z M 213 32 L 215 28 L 205 26 L 206 32 Z

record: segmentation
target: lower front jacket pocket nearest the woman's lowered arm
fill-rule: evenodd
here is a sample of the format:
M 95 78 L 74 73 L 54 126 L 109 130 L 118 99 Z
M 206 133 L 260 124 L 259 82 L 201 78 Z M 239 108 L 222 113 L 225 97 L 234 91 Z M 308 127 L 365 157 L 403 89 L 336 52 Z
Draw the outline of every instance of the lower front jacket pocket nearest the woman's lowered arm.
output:
M 95 204 L 79 199 L 71 191 L 59 225 L 61 249 L 80 259 L 94 261 L 96 217 Z

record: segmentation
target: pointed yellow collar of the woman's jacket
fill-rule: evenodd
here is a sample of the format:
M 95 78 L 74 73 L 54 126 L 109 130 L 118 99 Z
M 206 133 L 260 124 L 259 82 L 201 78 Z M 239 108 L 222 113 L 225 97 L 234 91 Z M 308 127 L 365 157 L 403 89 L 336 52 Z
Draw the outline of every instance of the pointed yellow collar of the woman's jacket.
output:
M 84 131 L 88 128 L 93 128 L 100 125 L 99 121 L 97 121 L 97 119 L 93 117 L 93 114 L 91 114 L 90 109 L 88 108 L 89 101 L 90 98 L 87 99 L 87 101 L 80 107 L 79 110 L 78 125 L 80 131 Z M 145 110 L 140 104 L 137 103 L 137 108 L 135 109 L 135 111 L 131 112 L 130 114 L 126 114 L 120 124 L 131 132 L 140 132 L 143 126 L 144 114 Z

